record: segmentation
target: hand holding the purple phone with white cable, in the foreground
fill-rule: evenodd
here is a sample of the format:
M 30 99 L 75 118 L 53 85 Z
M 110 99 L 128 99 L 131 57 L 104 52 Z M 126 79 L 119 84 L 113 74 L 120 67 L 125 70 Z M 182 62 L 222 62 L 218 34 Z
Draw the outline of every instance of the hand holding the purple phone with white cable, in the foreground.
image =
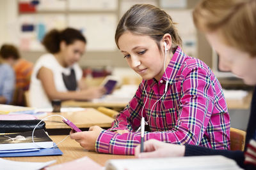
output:
M 97 125 L 90 127 L 89 131 L 70 131 L 70 138 L 75 139 L 86 150 L 95 151 L 95 143 L 103 129 Z

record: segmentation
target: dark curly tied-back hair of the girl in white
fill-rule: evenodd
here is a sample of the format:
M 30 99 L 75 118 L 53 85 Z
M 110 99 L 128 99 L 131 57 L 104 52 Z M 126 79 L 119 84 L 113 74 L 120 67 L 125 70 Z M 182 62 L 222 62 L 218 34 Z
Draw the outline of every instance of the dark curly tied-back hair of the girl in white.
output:
M 45 34 L 42 44 L 50 53 L 57 53 L 60 52 L 61 41 L 65 41 L 67 45 L 70 45 L 76 40 L 80 40 L 86 43 L 86 38 L 77 29 L 67 28 L 63 31 L 52 29 L 47 34 Z

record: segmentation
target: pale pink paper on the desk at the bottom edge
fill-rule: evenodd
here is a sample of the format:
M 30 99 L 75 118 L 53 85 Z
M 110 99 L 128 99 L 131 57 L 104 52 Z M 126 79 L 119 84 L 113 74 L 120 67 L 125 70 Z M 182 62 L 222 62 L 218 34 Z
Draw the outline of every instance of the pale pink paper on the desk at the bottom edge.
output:
M 58 164 L 56 166 L 45 167 L 45 170 L 70 170 L 70 169 L 88 169 L 88 170 L 102 170 L 103 167 L 94 162 L 89 157 L 82 157 L 80 159 Z

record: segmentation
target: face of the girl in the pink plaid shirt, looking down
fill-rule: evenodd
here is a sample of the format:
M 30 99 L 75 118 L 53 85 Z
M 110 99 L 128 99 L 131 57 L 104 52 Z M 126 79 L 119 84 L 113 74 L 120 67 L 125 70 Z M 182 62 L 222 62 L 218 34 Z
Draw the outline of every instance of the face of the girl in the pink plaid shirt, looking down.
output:
M 127 31 L 118 39 L 118 46 L 128 65 L 143 79 L 161 79 L 164 73 L 164 57 L 152 38 Z

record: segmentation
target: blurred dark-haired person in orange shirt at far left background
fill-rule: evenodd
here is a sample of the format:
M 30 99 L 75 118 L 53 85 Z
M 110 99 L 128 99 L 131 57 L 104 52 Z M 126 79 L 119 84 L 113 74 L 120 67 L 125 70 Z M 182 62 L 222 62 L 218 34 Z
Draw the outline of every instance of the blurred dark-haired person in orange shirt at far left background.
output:
M 18 49 L 14 45 L 4 44 L 1 46 L 0 55 L 10 66 L 13 67 L 16 77 L 13 105 L 25 106 L 24 92 L 29 89 L 33 63 L 21 59 Z

